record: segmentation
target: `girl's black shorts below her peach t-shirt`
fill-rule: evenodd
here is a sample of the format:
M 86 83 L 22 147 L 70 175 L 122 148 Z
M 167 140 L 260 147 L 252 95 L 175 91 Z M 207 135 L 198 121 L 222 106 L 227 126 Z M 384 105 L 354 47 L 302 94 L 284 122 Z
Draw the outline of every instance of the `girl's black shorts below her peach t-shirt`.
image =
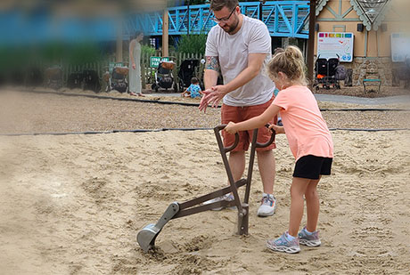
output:
M 316 157 L 313 155 L 303 156 L 296 162 L 293 176 L 318 180 L 321 174 L 331 174 L 332 161 L 333 158 Z

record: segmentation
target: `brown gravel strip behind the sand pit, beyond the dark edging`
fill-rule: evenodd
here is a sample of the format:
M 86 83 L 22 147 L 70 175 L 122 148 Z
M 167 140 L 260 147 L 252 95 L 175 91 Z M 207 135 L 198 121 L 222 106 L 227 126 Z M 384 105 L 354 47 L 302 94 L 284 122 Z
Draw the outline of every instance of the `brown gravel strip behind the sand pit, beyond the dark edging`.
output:
M 105 94 L 107 95 L 107 94 Z M 134 98 L 124 94 L 115 97 Z M 169 101 L 146 96 L 144 100 Z M 173 98 L 172 101 L 184 99 Z M 186 100 L 185 100 L 186 101 Z M 199 101 L 187 100 L 186 102 Z M 368 106 L 320 102 L 322 109 Z M 372 106 L 374 107 L 374 106 Z M 58 94 L 0 93 L 1 133 L 67 133 L 160 128 L 209 128 L 219 124 L 220 109 L 206 114 L 194 106 L 164 105 L 62 96 Z M 409 112 L 324 111 L 330 128 L 407 128 Z

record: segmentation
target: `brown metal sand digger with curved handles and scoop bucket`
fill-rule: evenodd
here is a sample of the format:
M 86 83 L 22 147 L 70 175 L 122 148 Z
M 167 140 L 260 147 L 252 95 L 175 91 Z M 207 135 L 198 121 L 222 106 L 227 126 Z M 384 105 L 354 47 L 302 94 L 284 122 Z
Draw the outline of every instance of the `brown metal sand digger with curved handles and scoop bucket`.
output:
M 155 239 L 160 234 L 162 228 L 172 219 L 181 218 L 191 214 L 197 214 L 204 211 L 208 211 L 210 209 L 214 209 L 217 207 L 230 207 L 235 206 L 238 210 L 238 224 L 237 224 L 237 234 L 239 235 L 247 235 L 248 234 L 248 221 L 249 221 L 249 197 L 250 197 L 250 182 L 252 179 L 252 170 L 253 170 L 253 163 L 255 159 L 255 151 L 257 148 L 264 148 L 269 146 L 272 142 L 275 141 L 275 131 L 272 130 L 272 136 L 269 142 L 264 144 L 257 142 L 258 137 L 258 129 L 253 131 L 252 137 L 252 145 L 250 147 L 250 160 L 249 160 L 249 167 L 248 167 L 248 175 L 246 178 L 242 178 L 241 180 L 234 182 L 234 177 L 229 166 L 228 158 L 226 153 L 234 150 L 234 148 L 238 145 L 239 142 L 239 134 L 235 134 L 235 142 L 230 147 L 224 147 L 224 143 L 222 142 L 222 137 L 220 131 L 225 128 L 226 125 L 218 125 L 214 128 L 215 135 L 217 137 L 217 145 L 219 147 L 222 160 L 225 165 L 226 174 L 228 176 L 229 186 L 225 187 L 221 190 L 213 191 L 207 195 L 203 195 L 198 198 L 193 198 L 191 200 L 185 201 L 183 203 L 173 202 L 171 203 L 168 208 L 165 210 L 164 214 L 160 217 L 160 220 L 157 223 L 150 223 L 145 226 L 141 231 L 138 232 L 136 236 L 136 240 L 141 248 L 143 248 L 144 252 L 148 252 L 150 248 L 155 246 Z M 266 125 L 268 127 L 269 125 Z M 243 201 L 238 194 L 238 188 L 242 187 L 243 185 L 246 186 L 245 194 Z M 209 204 L 203 204 L 206 201 L 209 201 L 212 198 L 217 198 L 232 192 L 234 195 L 234 200 L 227 201 L 221 200 Z

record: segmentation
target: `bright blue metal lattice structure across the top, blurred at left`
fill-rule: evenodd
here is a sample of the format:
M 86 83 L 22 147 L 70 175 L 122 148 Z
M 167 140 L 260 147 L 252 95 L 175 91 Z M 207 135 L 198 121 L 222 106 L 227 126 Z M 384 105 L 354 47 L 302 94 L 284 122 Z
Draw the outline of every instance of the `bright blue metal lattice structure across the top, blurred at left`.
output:
M 309 13 L 308 1 L 241 2 L 243 14 L 261 18 L 271 36 L 298 37 L 307 39 L 306 20 Z M 189 14 L 189 16 L 188 16 Z M 123 39 L 128 39 L 136 30 L 143 30 L 147 36 L 162 35 L 163 11 L 122 17 Z M 215 26 L 209 4 L 168 8 L 170 36 L 208 33 Z M 189 22 L 189 24 L 188 24 Z M 60 40 L 78 42 L 81 40 L 113 41 L 117 38 L 118 22 L 109 18 L 53 18 L 44 10 L 26 14 L 19 10 L 0 11 L 0 46 L 3 44 L 44 43 Z

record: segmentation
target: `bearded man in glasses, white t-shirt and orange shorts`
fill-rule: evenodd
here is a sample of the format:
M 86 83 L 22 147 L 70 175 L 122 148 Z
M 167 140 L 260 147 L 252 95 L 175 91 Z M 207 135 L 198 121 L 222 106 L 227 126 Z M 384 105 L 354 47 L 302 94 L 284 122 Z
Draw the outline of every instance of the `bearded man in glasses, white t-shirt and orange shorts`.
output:
M 205 91 L 200 110 L 210 104 L 217 107 L 223 99 L 222 124 L 240 122 L 256 117 L 271 104 L 275 84 L 264 74 L 264 65 L 271 58 L 271 38 L 266 25 L 241 14 L 237 0 L 212 0 L 217 26 L 209 31 L 206 46 Z M 224 85 L 217 85 L 218 73 Z M 274 121 L 271 121 L 274 123 Z M 224 144 L 234 142 L 234 135 L 223 132 Z M 234 181 L 242 178 L 245 170 L 245 151 L 248 150 L 252 131 L 241 132 L 240 142 L 229 154 L 229 164 Z M 265 128 L 258 130 L 258 142 L 267 142 L 271 133 Z M 275 213 L 276 199 L 273 195 L 275 181 L 275 143 L 257 150 L 258 168 L 263 183 L 262 203 L 258 216 Z M 234 199 L 232 194 L 217 200 Z

